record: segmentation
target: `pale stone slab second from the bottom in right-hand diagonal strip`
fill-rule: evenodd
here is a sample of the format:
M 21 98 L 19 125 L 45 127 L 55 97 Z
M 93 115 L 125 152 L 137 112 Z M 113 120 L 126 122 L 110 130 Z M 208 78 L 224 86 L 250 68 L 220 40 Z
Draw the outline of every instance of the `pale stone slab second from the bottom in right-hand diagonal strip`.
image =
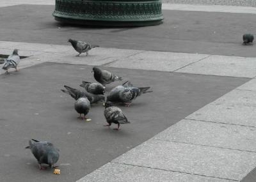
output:
M 256 153 L 147 140 L 113 162 L 240 180 L 256 166 Z

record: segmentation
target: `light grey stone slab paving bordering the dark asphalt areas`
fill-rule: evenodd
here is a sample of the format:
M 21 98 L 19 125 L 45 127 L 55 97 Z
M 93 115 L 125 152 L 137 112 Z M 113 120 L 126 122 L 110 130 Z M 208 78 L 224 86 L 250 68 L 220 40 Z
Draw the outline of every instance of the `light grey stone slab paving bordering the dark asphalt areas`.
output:
M 38 2 L 40 4 L 40 1 Z M 28 1 L 24 3 L 29 4 Z M 10 6 L 7 1 L 6 4 L 4 6 Z M 184 8 L 180 4 L 173 7 L 166 4 L 167 6 L 171 7 L 168 10 L 174 6 L 180 10 Z M 196 6 L 186 5 L 190 9 L 184 10 L 193 10 Z M 200 6 L 197 7 L 197 10 L 200 10 Z M 201 7 L 205 9 L 206 6 Z M 214 9 L 212 11 L 228 12 L 225 9 L 227 7 L 223 6 L 211 8 Z M 244 9 L 244 12 L 247 10 Z M 250 10 L 250 13 L 255 14 L 253 8 Z M 229 12 L 244 13 L 241 12 L 241 7 Z M 0 54 L 10 54 L 13 47 L 20 50 L 20 55 L 29 56 L 20 61 L 21 68 L 54 62 L 240 77 L 249 80 L 158 133 L 152 139 L 79 179 L 79 182 L 241 181 L 256 167 L 255 57 L 104 47 L 91 50 L 91 56 L 74 57 L 76 52 L 70 49 L 69 45 L 9 41 L 0 41 Z

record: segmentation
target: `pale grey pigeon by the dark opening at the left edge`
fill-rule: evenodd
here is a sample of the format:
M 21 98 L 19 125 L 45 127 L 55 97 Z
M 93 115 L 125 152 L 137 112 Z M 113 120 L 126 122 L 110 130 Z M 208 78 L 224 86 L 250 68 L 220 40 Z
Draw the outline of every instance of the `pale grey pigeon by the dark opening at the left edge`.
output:
M 9 74 L 9 68 L 15 68 L 16 72 L 18 71 L 17 66 L 20 63 L 20 56 L 18 54 L 18 50 L 14 49 L 13 53 L 7 57 L 4 61 L 3 70 L 6 70 L 6 74 Z

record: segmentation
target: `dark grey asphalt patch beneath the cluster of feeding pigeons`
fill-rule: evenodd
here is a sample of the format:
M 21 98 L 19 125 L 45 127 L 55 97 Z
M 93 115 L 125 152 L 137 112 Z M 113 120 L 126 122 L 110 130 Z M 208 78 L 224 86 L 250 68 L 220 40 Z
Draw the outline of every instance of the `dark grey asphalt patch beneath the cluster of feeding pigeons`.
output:
M 76 181 L 248 81 L 108 67 L 135 86 L 154 91 L 129 108 L 120 105 L 131 125 L 116 132 L 102 126 L 106 121 L 101 103 L 88 114 L 92 122 L 84 123 L 77 120 L 74 100 L 60 91 L 65 84 L 79 89 L 82 80 L 94 81 L 91 70 L 86 65 L 43 63 L 0 75 L 0 181 Z M 60 176 L 38 170 L 35 158 L 24 149 L 31 138 L 60 148 Z

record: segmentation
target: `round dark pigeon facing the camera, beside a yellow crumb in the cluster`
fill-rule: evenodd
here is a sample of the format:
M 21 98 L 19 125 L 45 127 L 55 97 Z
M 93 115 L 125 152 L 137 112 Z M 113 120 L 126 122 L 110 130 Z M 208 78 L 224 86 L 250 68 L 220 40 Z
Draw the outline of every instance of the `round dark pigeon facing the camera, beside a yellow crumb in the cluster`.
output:
M 75 109 L 80 116 L 78 118 L 86 119 L 85 115 L 88 114 L 91 108 L 90 101 L 86 97 L 81 97 L 75 102 Z M 84 114 L 84 117 L 81 117 L 81 114 Z

